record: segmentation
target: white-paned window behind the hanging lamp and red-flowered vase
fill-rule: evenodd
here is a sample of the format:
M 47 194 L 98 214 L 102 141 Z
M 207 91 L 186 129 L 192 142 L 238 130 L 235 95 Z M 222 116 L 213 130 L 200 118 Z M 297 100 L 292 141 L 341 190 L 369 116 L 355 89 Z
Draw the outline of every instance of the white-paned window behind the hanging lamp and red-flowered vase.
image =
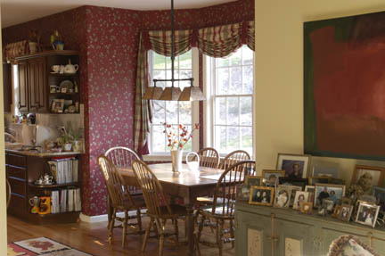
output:
M 193 77 L 193 53 L 194 50 L 179 55 L 175 59 L 174 76 L 175 78 L 192 78 Z M 196 51 L 197 52 L 197 51 Z M 197 53 L 196 53 L 197 54 Z M 194 58 L 195 59 L 195 58 Z M 156 54 L 149 51 L 149 68 L 153 78 L 169 79 L 171 78 L 171 58 Z M 198 78 L 195 78 L 195 81 Z M 194 82 L 195 82 L 194 81 Z M 176 82 L 175 87 L 190 86 L 189 81 Z M 171 82 L 157 82 L 157 87 L 171 87 Z M 150 132 L 149 149 L 151 153 L 167 153 L 168 140 L 167 135 L 163 133 L 163 123 L 166 122 L 177 128 L 178 124 L 184 124 L 191 130 L 193 121 L 193 103 L 176 102 L 176 101 L 152 101 L 153 102 L 153 118 Z M 189 141 L 184 146 L 184 151 L 193 150 L 193 142 Z M 194 147 L 195 148 L 195 147 Z

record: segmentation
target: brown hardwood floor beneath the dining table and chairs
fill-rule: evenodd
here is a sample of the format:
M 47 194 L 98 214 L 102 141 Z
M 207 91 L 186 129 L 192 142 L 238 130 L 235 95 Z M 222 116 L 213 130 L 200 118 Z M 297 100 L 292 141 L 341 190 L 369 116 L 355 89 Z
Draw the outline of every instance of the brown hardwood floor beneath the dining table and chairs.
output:
M 147 219 L 143 219 L 143 227 L 147 227 Z M 179 222 L 178 222 L 179 223 Z M 95 256 L 103 255 L 158 255 L 158 240 L 155 238 L 149 239 L 146 252 L 141 252 L 143 235 L 127 235 L 126 248 L 121 247 L 121 228 L 114 229 L 113 242 L 108 243 L 107 222 L 98 222 L 88 224 L 79 222 L 76 224 L 54 224 L 37 226 L 25 222 L 21 219 L 16 219 L 8 216 L 8 242 L 16 242 L 29 238 L 45 236 L 53 239 L 61 244 L 70 245 L 78 250 L 88 252 Z M 179 237 L 184 239 L 184 221 L 179 223 Z M 170 228 L 172 226 L 170 225 Z M 208 235 L 209 228 L 205 228 Z M 209 248 L 200 245 L 201 255 L 218 255 L 217 248 Z M 186 255 L 187 248 L 182 246 L 176 248 L 174 244 L 165 243 L 163 255 Z M 224 256 L 235 255 L 235 250 L 231 248 L 231 244 L 225 244 L 223 251 Z

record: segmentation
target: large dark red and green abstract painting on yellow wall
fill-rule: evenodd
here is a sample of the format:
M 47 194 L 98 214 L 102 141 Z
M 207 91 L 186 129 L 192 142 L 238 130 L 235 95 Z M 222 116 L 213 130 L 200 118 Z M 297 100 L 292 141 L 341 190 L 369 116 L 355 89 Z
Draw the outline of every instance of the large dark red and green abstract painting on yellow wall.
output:
M 304 23 L 305 153 L 385 160 L 385 12 Z

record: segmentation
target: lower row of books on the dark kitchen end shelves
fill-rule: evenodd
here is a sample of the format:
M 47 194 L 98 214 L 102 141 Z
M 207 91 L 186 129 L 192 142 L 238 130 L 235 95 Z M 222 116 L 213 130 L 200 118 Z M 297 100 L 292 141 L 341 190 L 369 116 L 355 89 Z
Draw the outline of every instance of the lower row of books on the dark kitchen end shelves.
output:
M 51 213 L 67 211 L 81 211 L 81 198 L 79 187 L 53 190 L 51 192 Z

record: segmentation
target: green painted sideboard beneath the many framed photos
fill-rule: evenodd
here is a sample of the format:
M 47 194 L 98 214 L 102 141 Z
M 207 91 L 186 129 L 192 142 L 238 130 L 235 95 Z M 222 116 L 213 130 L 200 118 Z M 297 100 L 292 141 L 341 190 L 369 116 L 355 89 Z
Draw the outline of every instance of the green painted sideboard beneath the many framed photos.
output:
M 244 256 L 327 255 L 340 235 L 355 235 L 385 255 L 385 227 L 367 227 L 291 209 L 237 202 L 235 252 Z

